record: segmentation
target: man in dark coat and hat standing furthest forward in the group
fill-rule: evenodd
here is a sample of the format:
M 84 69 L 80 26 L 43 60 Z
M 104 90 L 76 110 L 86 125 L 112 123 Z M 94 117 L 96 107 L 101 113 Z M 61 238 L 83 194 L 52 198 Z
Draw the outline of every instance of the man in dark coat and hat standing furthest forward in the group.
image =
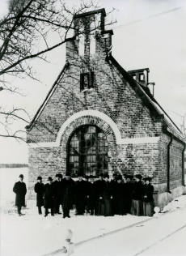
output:
M 70 178 L 69 172 L 67 172 L 66 177 L 62 179 L 61 192 L 63 218 L 70 218 L 70 209 L 73 208 L 74 203 L 74 181 Z

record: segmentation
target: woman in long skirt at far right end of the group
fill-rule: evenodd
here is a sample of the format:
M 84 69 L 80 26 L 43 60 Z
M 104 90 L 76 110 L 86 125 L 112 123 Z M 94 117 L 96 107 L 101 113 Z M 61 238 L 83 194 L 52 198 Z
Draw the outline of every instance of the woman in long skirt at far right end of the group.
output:
M 154 186 L 150 184 L 151 178 L 145 177 L 143 186 L 143 215 L 152 217 L 154 215 Z

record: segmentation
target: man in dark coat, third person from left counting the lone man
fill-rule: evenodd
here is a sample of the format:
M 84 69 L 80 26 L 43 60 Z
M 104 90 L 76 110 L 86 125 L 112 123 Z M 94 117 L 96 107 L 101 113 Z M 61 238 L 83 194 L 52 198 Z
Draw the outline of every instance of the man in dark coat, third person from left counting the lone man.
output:
M 49 214 L 49 208 L 51 209 L 51 215 L 54 216 L 54 186 L 52 177 L 48 178 L 48 183 L 44 184 L 43 198 L 46 217 Z

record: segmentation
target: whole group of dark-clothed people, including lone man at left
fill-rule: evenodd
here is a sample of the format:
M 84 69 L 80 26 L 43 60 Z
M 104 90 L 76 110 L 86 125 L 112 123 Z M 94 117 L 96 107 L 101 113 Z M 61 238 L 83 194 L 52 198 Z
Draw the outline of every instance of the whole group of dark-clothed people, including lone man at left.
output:
M 15 183 L 13 191 L 16 194 L 15 205 L 18 207 L 19 216 L 22 215 L 21 207 L 25 205 L 25 194 L 27 188 L 23 182 L 23 175 L 19 175 L 19 182 Z M 113 179 L 109 181 L 108 174 L 99 174 L 99 179 L 95 177 L 84 177 L 78 173 L 78 181 L 66 173 L 63 178 L 61 174 L 56 174 L 56 180 L 48 178 L 48 183 L 44 185 L 42 177 L 37 177 L 34 186 L 36 192 L 36 206 L 38 213 L 42 214 L 41 207 L 44 206 L 44 216 L 51 213 L 52 216 L 61 214 L 63 218 L 70 218 L 70 209 L 75 205 L 76 215 L 148 215 L 154 214 L 154 187 L 150 184 L 151 178 L 136 174 L 134 177 L 126 175 L 124 178 L 120 174 L 113 173 Z M 49 212 L 50 209 L 50 212 Z

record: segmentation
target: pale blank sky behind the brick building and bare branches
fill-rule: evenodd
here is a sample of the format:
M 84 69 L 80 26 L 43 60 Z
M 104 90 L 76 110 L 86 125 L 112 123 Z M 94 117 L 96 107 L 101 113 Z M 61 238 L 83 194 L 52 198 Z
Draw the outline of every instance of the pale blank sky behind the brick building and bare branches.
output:
M 72 3 L 72 0 L 68 0 Z M 112 56 L 125 70 L 149 68 L 154 97 L 180 126 L 186 113 L 186 0 L 110 0 L 99 1 L 108 13 L 112 7 Z M 0 0 L 0 15 L 7 1 Z M 15 79 L 26 96 L 0 92 L 2 105 L 23 107 L 33 117 L 43 103 L 57 75 L 66 63 L 66 45 L 49 53 L 50 63 L 34 62 L 42 83 Z M 26 124 L 16 123 L 18 129 Z M 0 139 L 0 162 L 27 164 L 27 145 L 15 139 Z

